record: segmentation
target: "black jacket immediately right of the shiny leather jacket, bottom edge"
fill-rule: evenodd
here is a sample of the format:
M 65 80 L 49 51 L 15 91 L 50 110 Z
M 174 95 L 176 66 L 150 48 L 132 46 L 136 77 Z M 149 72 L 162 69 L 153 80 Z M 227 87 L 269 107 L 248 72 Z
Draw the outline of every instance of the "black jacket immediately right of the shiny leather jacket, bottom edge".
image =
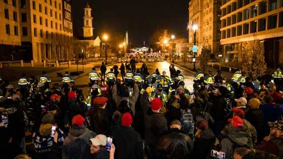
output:
M 206 159 L 210 153 L 210 146 L 215 141 L 216 137 L 210 129 L 203 131 L 200 137 L 195 139 L 192 158 Z

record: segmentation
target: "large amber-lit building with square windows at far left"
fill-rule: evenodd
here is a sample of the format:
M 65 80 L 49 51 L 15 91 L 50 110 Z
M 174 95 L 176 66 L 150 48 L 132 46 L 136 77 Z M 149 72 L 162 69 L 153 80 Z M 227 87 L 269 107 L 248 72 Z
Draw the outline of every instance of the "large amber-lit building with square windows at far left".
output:
M 35 63 L 73 58 L 70 0 L 4 0 L 0 10 L 2 47 L 24 47 L 23 59 Z

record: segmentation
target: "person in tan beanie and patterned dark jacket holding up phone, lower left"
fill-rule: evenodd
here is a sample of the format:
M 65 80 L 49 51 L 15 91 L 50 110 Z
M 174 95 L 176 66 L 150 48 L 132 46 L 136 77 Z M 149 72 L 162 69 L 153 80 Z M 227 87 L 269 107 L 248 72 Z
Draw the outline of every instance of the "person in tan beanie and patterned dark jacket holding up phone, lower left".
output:
M 54 123 L 54 116 L 50 113 L 42 118 L 38 131 L 32 135 L 35 158 L 60 158 L 62 156 L 63 141 L 66 134 Z

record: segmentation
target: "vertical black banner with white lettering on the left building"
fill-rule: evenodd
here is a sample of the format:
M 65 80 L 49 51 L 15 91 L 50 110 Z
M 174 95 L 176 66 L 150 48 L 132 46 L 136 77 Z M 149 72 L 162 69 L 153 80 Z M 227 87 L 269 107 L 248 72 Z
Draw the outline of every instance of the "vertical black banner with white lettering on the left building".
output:
M 63 30 L 73 33 L 71 0 L 63 0 Z

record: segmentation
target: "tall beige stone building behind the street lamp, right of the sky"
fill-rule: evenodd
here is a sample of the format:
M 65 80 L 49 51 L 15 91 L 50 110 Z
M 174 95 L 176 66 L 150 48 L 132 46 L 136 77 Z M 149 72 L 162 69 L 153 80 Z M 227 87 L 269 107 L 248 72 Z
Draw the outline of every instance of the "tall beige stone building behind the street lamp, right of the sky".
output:
M 189 3 L 188 39 L 189 49 L 194 45 L 193 25 L 196 30 L 196 45 L 198 55 L 204 46 L 210 47 L 212 54 L 218 57 L 220 47 L 220 1 L 219 0 L 192 0 Z

